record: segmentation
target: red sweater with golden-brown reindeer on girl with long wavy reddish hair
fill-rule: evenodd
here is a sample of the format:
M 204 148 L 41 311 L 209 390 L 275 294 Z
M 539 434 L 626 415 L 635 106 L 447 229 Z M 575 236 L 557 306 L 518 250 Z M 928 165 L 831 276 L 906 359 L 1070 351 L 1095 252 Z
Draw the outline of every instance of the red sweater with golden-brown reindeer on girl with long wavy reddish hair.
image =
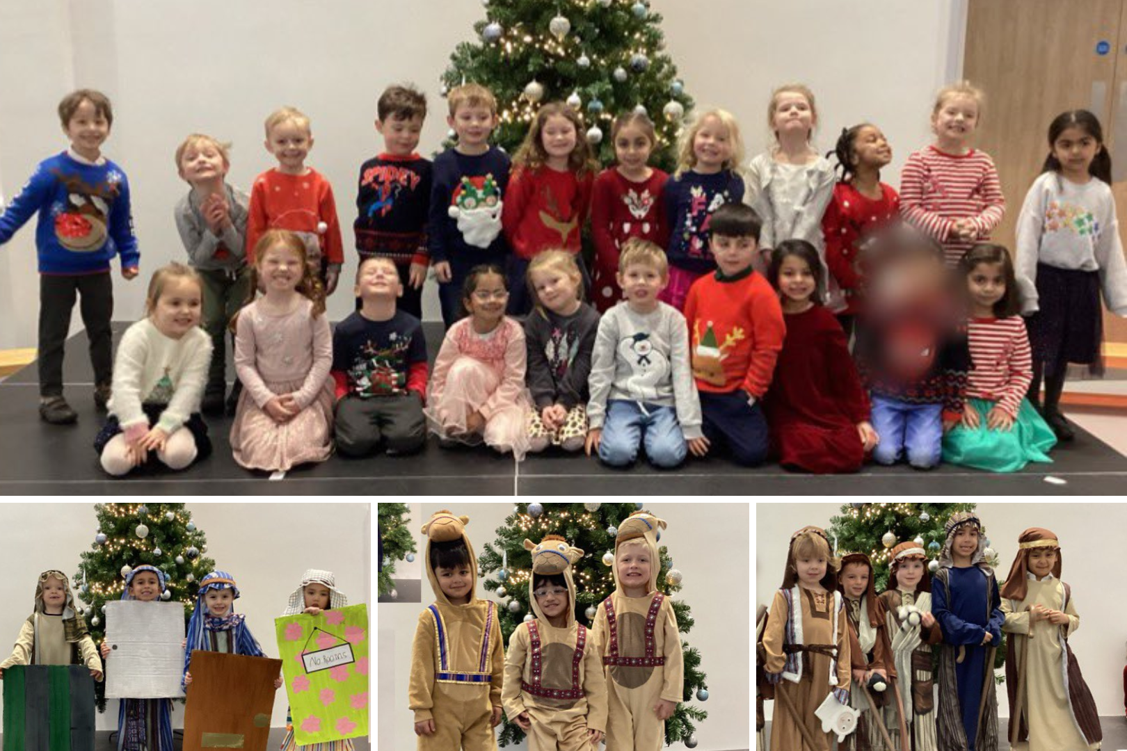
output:
M 591 172 L 579 178 L 550 167 L 515 169 L 500 214 L 513 252 L 525 260 L 553 248 L 578 253 L 594 182 Z

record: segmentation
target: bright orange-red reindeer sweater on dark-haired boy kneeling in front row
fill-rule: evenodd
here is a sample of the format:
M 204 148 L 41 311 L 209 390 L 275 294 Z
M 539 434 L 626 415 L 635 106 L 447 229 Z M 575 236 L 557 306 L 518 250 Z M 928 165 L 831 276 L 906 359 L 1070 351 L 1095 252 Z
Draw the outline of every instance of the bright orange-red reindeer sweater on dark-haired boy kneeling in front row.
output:
M 689 288 L 684 314 L 696 388 L 762 397 L 787 333 L 767 280 L 751 267 L 730 277 L 706 274 Z

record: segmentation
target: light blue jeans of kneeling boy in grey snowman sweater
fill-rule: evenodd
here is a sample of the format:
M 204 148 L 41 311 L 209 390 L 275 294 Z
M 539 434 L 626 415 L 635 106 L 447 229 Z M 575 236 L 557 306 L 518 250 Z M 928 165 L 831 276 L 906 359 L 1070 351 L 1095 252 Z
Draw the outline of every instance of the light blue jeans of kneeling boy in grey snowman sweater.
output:
M 675 467 L 685 461 L 687 447 L 676 410 L 612 399 L 606 404 L 598 458 L 611 466 L 624 467 L 638 458 L 642 445 L 654 466 Z

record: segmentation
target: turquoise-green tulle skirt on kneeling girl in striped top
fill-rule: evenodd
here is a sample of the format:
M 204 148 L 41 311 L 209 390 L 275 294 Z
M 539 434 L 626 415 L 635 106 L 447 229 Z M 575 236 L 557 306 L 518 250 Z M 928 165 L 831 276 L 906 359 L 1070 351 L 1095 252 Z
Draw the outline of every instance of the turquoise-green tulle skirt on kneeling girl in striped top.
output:
M 991 430 L 986 415 L 994 402 L 968 399 L 978 411 L 979 424 L 974 430 L 961 422 L 943 436 L 943 461 L 991 472 L 1017 472 L 1030 462 L 1053 462 L 1048 450 L 1056 436 L 1028 399 L 1021 400 L 1018 419 L 1010 430 Z

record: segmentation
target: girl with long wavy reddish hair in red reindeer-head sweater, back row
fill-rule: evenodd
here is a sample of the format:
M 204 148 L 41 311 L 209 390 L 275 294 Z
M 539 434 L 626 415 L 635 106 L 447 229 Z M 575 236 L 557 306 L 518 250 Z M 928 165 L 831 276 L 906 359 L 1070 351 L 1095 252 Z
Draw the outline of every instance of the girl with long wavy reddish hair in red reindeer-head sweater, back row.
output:
M 513 157 L 513 179 L 500 217 L 513 249 L 508 259 L 509 314 L 524 315 L 532 310 L 533 297 L 525 286 L 529 261 L 550 248 L 576 256 L 584 286 L 589 288 L 579 240 L 596 169 L 579 114 L 560 101 L 542 105 Z

